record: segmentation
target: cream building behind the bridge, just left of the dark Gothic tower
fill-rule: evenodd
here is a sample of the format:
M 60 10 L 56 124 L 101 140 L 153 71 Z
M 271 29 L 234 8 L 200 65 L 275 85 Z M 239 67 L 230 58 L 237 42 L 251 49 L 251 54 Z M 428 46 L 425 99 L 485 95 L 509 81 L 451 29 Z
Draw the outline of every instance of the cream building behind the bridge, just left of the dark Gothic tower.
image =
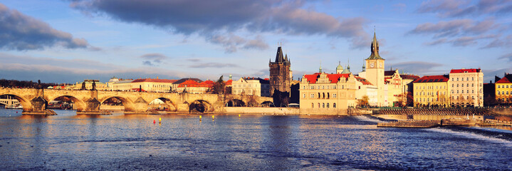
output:
M 242 77 L 238 81 L 233 81 L 232 84 L 231 93 L 234 95 L 270 96 L 270 81 L 268 81 L 268 78 Z

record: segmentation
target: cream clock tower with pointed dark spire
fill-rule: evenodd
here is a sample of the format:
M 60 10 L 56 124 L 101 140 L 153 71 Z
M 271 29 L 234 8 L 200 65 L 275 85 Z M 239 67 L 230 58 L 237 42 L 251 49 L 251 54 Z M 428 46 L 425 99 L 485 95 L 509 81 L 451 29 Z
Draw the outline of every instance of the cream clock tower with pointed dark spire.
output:
M 384 91 L 384 58 L 379 55 L 379 42 L 375 32 L 373 33 L 373 41 L 370 46 L 372 54 L 366 58 L 366 79 L 374 86 L 377 86 L 377 103 L 378 105 L 385 105 L 385 91 Z

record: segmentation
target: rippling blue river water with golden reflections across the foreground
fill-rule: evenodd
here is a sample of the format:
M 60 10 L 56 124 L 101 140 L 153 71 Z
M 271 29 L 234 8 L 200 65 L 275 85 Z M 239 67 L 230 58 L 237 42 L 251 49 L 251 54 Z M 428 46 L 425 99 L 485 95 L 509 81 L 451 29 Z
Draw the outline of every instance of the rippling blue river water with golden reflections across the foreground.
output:
M 0 109 L 0 170 L 512 170 L 512 131 L 495 128 L 377 128 L 365 116 L 56 112 Z

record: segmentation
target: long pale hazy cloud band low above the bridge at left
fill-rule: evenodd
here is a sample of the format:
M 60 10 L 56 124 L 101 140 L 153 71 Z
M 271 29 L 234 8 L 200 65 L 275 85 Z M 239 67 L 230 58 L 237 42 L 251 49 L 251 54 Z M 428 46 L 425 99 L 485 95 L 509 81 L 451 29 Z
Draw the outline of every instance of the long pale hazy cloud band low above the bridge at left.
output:
M 16 58 L 16 60 L 13 60 Z M 23 63 L 20 63 L 23 61 Z M 218 78 L 210 73 L 172 71 L 163 68 L 127 68 L 113 63 L 101 63 L 83 59 L 35 58 L 0 53 L 1 78 L 37 81 L 45 83 L 74 83 L 84 79 L 99 79 L 106 82 L 110 77 L 118 78 Z

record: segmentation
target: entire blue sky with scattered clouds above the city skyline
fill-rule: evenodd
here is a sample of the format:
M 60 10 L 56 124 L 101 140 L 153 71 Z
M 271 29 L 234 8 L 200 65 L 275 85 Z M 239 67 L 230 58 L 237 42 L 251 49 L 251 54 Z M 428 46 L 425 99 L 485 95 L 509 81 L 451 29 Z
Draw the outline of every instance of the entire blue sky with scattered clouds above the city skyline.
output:
M 268 78 L 278 42 L 294 78 L 352 73 L 375 29 L 386 68 L 512 72 L 512 1 L 75 0 L 0 2 L 0 78 Z M 350 62 L 349 62 L 350 60 Z

